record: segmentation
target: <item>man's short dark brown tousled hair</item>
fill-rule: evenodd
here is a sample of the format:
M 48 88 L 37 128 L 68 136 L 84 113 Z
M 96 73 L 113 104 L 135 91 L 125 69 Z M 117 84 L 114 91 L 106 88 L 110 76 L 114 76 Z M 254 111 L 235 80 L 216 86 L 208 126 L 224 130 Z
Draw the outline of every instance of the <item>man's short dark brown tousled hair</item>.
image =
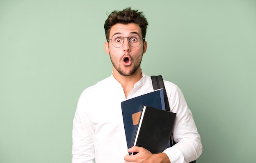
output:
M 131 7 L 124 9 L 123 11 L 112 11 L 108 15 L 107 20 L 104 24 L 106 39 L 109 40 L 110 29 L 113 25 L 121 23 L 121 24 L 128 24 L 128 23 L 135 23 L 140 26 L 142 37 L 146 38 L 146 31 L 148 22 L 145 18 L 143 12 L 138 12 L 138 10 L 132 10 Z

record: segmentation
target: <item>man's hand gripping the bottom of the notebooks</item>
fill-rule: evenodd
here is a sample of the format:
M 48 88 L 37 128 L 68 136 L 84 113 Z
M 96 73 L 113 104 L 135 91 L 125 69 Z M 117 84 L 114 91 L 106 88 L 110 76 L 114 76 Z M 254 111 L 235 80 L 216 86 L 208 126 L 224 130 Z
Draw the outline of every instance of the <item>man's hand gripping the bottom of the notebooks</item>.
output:
M 128 152 L 138 153 L 132 156 L 126 154 L 126 156 L 124 156 L 124 163 L 171 163 L 165 153 L 152 154 L 142 147 L 133 146 L 128 149 Z

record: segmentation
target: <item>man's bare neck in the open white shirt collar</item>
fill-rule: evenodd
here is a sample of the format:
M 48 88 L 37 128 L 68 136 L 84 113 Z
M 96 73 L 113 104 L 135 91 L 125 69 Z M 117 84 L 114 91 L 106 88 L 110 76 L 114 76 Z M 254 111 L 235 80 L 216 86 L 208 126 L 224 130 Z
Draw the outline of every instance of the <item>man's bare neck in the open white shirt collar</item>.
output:
M 132 91 L 134 84 L 142 78 L 141 69 L 138 68 L 133 75 L 124 76 L 119 74 L 116 70 L 113 70 L 113 76 L 124 88 L 124 94 L 127 98 L 129 93 Z

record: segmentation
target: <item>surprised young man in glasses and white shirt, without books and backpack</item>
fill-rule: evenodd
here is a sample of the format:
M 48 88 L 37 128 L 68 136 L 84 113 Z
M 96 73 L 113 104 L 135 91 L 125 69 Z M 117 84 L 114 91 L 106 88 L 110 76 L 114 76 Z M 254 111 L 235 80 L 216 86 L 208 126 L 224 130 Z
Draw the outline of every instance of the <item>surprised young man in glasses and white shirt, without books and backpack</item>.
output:
M 81 94 L 73 121 L 72 163 L 189 163 L 202 152 L 200 135 L 181 90 L 164 81 L 170 109 L 177 113 L 173 147 L 152 154 L 142 147 L 127 149 L 121 102 L 153 91 L 140 68 L 146 53 L 148 22 L 142 12 L 113 11 L 105 22 L 105 51 L 112 75 Z M 150 143 L 150 142 L 149 142 Z M 138 152 L 129 156 L 128 152 Z

